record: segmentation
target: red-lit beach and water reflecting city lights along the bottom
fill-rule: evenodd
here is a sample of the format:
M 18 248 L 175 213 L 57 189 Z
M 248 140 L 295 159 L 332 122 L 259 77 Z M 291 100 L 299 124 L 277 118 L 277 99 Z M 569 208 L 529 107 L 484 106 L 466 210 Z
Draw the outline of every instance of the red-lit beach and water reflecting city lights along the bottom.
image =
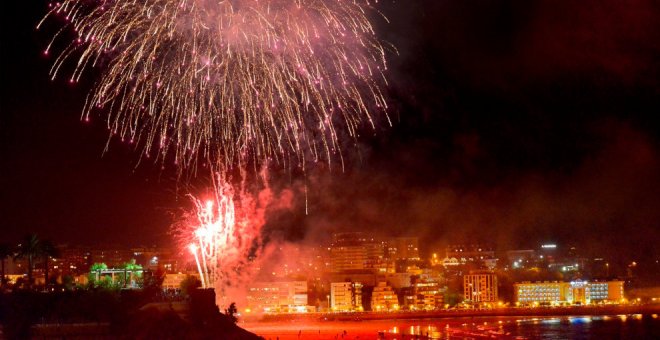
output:
M 653 311 L 651 309 L 650 311 Z M 600 325 L 596 329 L 584 325 Z M 362 320 L 289 319 L 244 322 L 240 327 L 265 340 L 364 340 L 364 339 L 535 339 L 539 331 L 557 338 L 585 338 L 624 332 L 624 338 L 658 335 L 657 314 L 616 315 L 460 315 L 445 318 L 390 318 Z M 624 328 L 622 328 L 624 327 Z M 649 328 L 651 327 L 651 328 Z M 625 329 L 625 331 L 623 331 Z M 639 338 L 639 337 L 638 337 Z M 653 337 L 652 337 L 653 338 Z

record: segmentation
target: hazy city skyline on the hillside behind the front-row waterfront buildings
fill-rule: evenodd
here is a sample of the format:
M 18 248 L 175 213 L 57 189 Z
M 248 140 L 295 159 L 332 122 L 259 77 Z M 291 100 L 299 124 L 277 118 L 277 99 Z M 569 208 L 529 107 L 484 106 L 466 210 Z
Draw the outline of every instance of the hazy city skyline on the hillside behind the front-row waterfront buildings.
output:
M 332 239 L 334 241 L 320 244 L 287 244 L 269 249 L 266 252 L 267 258 L 253 259 L 257 271 L 241 280 L 281 280 L 300 275 L 309 279 L 326 275 L 339 278 L 347 273 L 358 277 L 362 274 L 388 277 L 398 273 L 415 276 L 423 273 L 420 269 L 426 268 L 440 269 L 441 274 L 450 276 L 457 273 L 463 275 L 469 271 L 538 272 L 540 269 L 545 272 L 546 278 L 556 278 L 552 273 L 568 278 L 632 278 L 634 273 L 636 280 L 641 279 L 639 283 L 646 285 L 656 279 L 657 275 L 652 268 L 657 268 L 659 261 L 646 254 L 638 254 L 633 258 L 585 254 L 580 251 L 579 245 L 538 243 L 526 249 L 509 249 L 492 244 L 449 244 L 438 248 L 422 242 L 421 247 L 418 247 L 417 237 L 373 237 L 363 232 L 335 233 Z M 54 246 L 57 252 L 49 258 L 52 269 L 60 275 L 84 274 L 92 265 L 101 263 L 109 268 L 120 268 L 131 261 L 137 261 L 137 264 L 148 270 L 195 272 L 193 257 L 186 250 L 175 246 Z M 18 253 L 21 244 L 12 249 L 11 252 Z M 39 268 L 42 262 L 36 260 L 37 272 L 42 270 Z M 8 273 L 25 274 L 25 259 L 16 260 L 10 256 L 7 265 Z M 391 278 L 399 280 L 403 277 L 392 275 Z

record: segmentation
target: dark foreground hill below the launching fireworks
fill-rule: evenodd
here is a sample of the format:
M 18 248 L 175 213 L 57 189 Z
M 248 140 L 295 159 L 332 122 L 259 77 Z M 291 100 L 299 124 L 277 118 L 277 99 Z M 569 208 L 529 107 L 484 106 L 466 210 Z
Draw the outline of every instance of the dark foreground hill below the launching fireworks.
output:
M 188 301 L 155 304 L 141 291 L 4 293 L 0 338 L 261 339 L 220 313 L 212 292 L 199 293 Z

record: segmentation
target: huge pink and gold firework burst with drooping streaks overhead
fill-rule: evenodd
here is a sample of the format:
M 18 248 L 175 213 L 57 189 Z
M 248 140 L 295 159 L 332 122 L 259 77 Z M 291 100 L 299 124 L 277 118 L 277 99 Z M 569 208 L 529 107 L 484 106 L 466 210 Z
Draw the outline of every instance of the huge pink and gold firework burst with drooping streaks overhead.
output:
M 386 48 L 367 0 L 51 6 L 44 20 L 67 23 L 53 41 L 68 30 L 76 35 L 51 76 L 71 72 L 77 82 L 103 63 L 84 117 L 103 110 L 111 135 L 179 169 L 200 160 L 217 169 L 248 161 L 304 167 L 306 155 L 330 162 L 341 155 L 340 134 L 355 138 L 386 110 Z

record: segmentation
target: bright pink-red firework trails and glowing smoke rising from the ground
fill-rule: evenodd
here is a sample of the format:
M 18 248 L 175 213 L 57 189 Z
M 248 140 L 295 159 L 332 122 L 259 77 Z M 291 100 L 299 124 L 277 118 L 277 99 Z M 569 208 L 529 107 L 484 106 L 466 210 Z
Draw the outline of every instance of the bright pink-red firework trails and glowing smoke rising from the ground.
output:
M 192 210 L 173 232 L 194 258 L 202 286 L 214 288 L 221 299 L 232 286 L 250 279 L 252 261 L 263 247 L 266 210 L 290 208 L 292 194 L 285 191 L 275 197 L 266 187 L 255 197 L 218 180 L 212 198 L 189 197 Z

